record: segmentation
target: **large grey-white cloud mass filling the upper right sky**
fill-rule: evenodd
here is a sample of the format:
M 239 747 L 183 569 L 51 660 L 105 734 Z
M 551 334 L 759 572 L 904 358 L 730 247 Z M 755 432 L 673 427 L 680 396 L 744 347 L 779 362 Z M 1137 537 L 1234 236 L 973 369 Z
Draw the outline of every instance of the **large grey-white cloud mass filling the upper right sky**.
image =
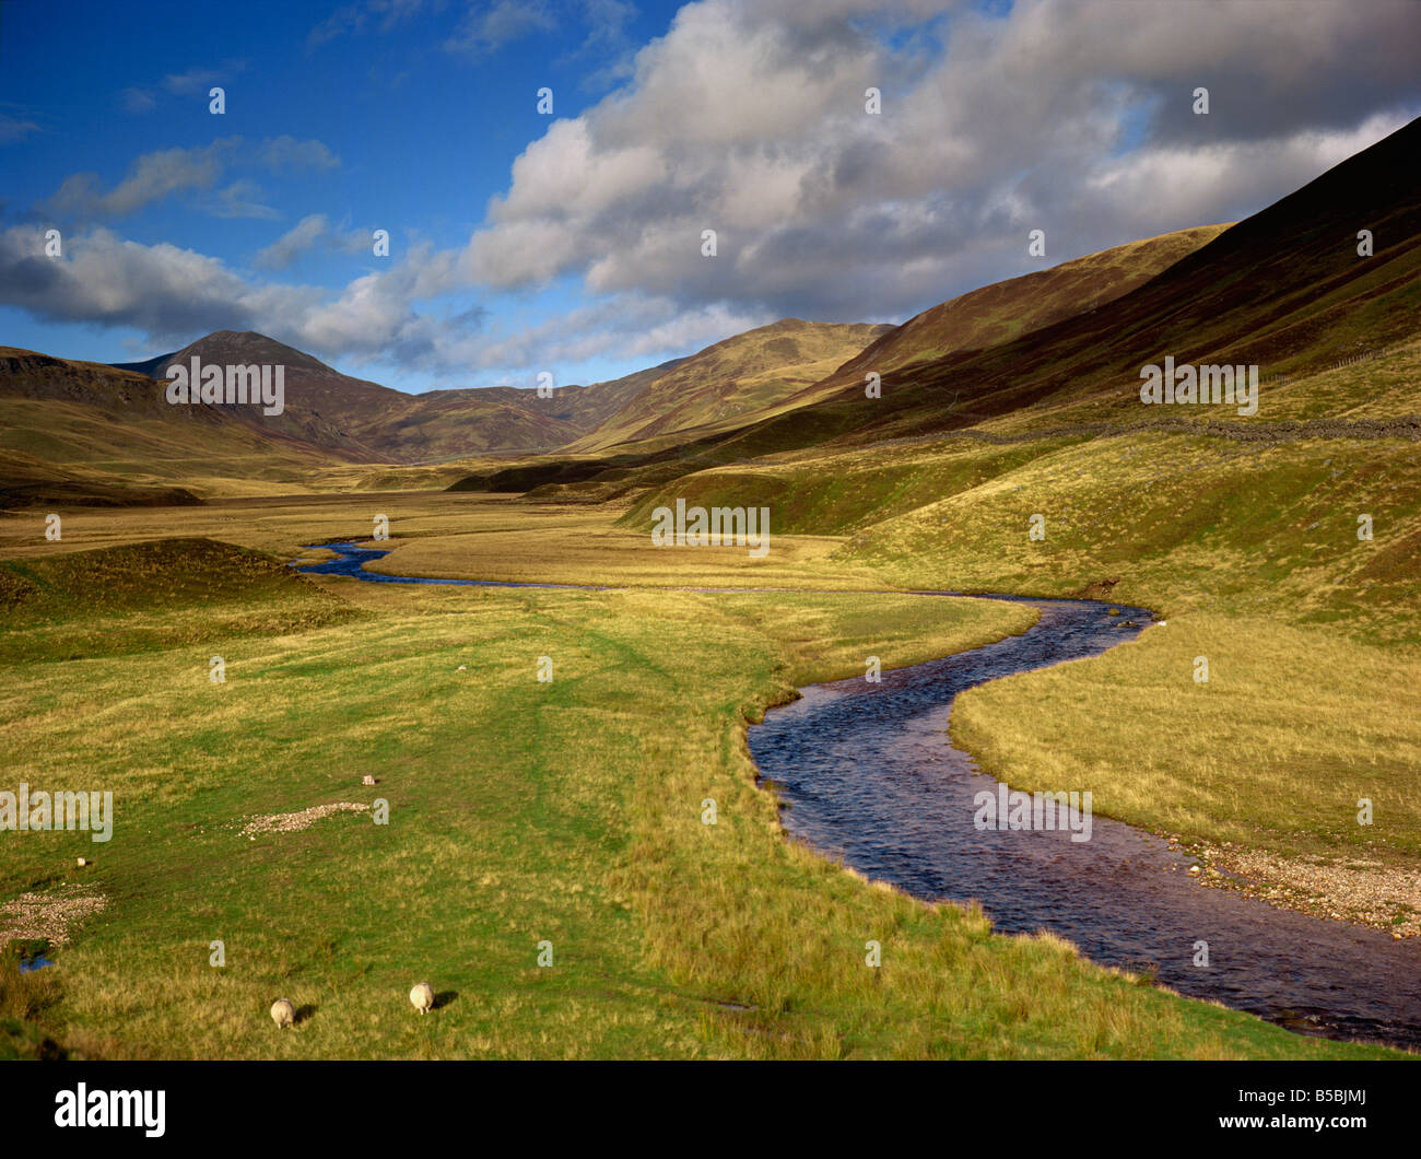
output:
M 1030 269 L 1029 229 L 1061 260 L 1262 208 L 1414 115 L 1418 55 L 1407 0 L 706 0 L 524 149 L 462 267 L 901 317 Z

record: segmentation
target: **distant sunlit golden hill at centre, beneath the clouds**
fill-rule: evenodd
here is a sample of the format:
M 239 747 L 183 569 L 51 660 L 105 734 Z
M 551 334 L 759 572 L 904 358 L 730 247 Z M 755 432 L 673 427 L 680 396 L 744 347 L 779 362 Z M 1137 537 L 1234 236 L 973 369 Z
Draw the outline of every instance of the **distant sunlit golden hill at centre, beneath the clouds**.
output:
M 693 354 L 566 449 L 600 451 L 689 431 L 723 429 L 817 383 L 887 330 L 783 319 Z

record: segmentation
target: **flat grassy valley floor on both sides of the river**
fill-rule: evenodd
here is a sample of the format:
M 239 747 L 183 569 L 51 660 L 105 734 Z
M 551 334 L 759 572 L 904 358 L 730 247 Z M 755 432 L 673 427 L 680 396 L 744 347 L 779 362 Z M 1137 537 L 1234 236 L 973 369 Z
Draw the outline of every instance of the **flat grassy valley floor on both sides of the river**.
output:
M 301 545 L 367 539 L 377 515 L 389 572 L 628 590 L 297 580 L 280 566 L 320 555 Z M 0 788 L 115 801 L 108 843 L 0 842 L 0 899 L 30 899 L 0 929 L 40 914 L 57 961 L 20 976 L 4 957 L 0 1052 L 1388 1054 L 1184 1001 L 1049 936 L 993 936 L 980 913 L 787 842 L 755 785 L 747 720 L 796 684 L 861 674 L 865 656 L 898 667 L 1032 617 L 907 592 L 870 600 L 857 590 L 914 577 L 845 542 L 780 535 L 766 560 L 657 550 L 607 512 L 445 493 L 78 513 L 61 543 L 38 516 L 0 520 Z M 94 566 L 101 599 L 85 586 Z M 675 590 L 691 586 L 804 590 Z M 953 730 L 989 771 L 1010 767 L 1013 788 L 1084 771 L 1097 811 L 1229 842 L 1223 856 L 1410 872 L 1421 681 L 1394 673 L 1415 660 L 1322 640 L 1280 626 L 1243 640 L 1191 613 L 1097 660 L 978 688 Z M 1175 671 L 1201 648 L 1219 683 L 1196 695 L 1243 707 L 1223 732 Z M 1310 694 L 1283 674 L 1304 657 L 1329 673 Z M 1395 697 L 1377 697 L 1383 671 Z M 1346 776 L 1340 754 L 1354 755 Z M 1333 812 L 1364 792 L 1378 825 L 1358 839 Z M 388 823 L 307 813 L 377 799 Z M 1411 931 L 1415 910 L 1384 900 L 1376 917 Z M 867 941 L 882 946 L 878 968 Z M 225 966 L 210 964 L 215 943 Z M 438 1017 L 408 1005 L 421 980 Z M 304 1013 L 294 1031 L 267 1018 L 277 997 Z

